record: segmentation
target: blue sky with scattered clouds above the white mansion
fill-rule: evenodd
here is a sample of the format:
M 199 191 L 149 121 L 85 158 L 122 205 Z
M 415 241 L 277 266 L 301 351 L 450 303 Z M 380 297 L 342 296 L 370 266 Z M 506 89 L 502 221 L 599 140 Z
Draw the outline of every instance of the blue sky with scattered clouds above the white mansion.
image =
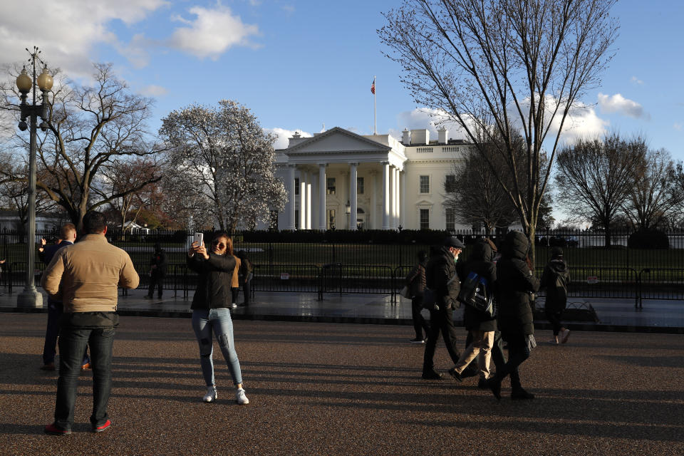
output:
M 427 115 L 382 56 L 376 29 L 395 0 L 56 0 L 3 1 L 0 63 L 40 47 L 50 66 L 83 78 L 90 62 L 111 62 L 138 93 L 155 98 L 152 128 L 191 103 L 238 100 L 281 135 L 339 126 L 373 133 L 425 128 Z M 684 6 L 623 0 L 616 56 L 576 134 L 616 129 L 646 135 L 684 160 Z

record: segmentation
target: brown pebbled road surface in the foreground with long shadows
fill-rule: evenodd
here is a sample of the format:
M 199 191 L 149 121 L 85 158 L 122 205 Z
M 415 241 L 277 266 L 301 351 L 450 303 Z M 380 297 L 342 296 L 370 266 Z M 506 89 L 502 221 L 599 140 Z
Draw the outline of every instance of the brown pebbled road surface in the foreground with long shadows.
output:
M 73 434 L 53 437 L 43 426 L 57 376 L 38 369 L 45 324 L 45 314 L 0 313 L 2 455 L 684 454 L 679 334 L 575 330 L 566 345 L 540 343 L 521 370 L 537 398 L 514 402 L 505 382 L 497 403 L 475 378 L 421 380 L 423 346 L 408 343 L 409 326 L 237 319 L 250 399 L 239 406 L 217 347 L 219 399 L 201 402 L 188 318 L 123 316 L 113 427 L 88 432 L 88 371 Z M 441 342 L 435 363 L 451 366 Z

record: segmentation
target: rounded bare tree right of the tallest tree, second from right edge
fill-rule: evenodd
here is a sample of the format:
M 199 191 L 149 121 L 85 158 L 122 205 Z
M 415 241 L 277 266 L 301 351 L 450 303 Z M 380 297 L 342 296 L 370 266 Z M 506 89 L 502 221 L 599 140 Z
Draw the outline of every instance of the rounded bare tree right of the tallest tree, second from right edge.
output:
M 643 174 L 646 150 L 641 137 L 625 140 L 611 133 L 601 139 L 578 140 L 558 154 L 559 204 L 576 221 L 591 220 L 602 227 L 606 247 L 611 246 L 613 220 L 627 202 L 634 177 Z

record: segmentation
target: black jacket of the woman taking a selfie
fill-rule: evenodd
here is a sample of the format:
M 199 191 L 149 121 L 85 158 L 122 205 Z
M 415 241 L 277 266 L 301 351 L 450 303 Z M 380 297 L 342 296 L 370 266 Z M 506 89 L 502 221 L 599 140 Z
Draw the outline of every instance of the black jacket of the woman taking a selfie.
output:
M 190 309 L 217 309 L 230 307 L 230 290 L 235 269 L 235 257 L 209 253 L 209 259 L 195 254 L 187 257 L 187 266 L 199 274 L 197 290 L 192 296 Z

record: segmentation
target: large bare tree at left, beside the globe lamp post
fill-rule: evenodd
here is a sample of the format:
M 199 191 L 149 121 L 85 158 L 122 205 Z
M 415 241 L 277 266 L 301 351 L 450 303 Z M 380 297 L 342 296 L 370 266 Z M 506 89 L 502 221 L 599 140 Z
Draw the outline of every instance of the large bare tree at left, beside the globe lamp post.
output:
M 157 145 L 150 141 L 146 124 L 152 100 L 130 93 L 126 83 L 115 77 L 110 65 L 97 63 L 94 67 L 92 86 L 66 81 L 58 71 L 53 75 L 57 81 L 47 100 L 47 128 L 38 135 L 36 156 L 36 189 L 63 207 L 79 227 L 89 209 L 135 192 L 147 183 L 140 182 L 138 187 L 95 201 L 93 182 L 104 166 L 120 157 L 144 157 L 159 152 Z M 5 84 L 0 86 L 0 93 L 0 108 L 18 112 L 16 88 Z M 17 154 L 28 149 L 25 135 L 17 134 L 15 140 Z M 4 173 L 4 176 L 27 182 L 26 175 Z

